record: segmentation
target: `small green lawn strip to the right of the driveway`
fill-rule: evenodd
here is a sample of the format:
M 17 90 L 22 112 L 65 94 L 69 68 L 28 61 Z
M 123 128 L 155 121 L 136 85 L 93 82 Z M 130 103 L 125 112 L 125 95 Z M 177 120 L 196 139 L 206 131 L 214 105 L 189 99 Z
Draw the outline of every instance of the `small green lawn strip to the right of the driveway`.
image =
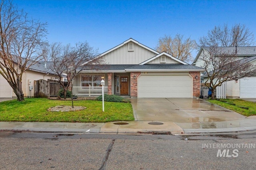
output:
M 232 106 L 230 104 L 217 101 L 217 100 L 208 100 L 210 103 L 214 103 L 216 105 L 220 105 L 222 107 L 225 107 L 227 109 L 230 109 L 232 111 L 235 111 L 236 113 L 240 113 L 241 115 L 244 116 L 252 116 L 256 115 L 256 103 L 250 102 L 250 101 L 244 101 L 240 99 L 221 99 L 223 101 L 227 101 L 228 103 L 234 103 L 236 106 Z M 248 107 L 249 110 L 242 109 L 238 106 L 243 106 L 243 107 Z

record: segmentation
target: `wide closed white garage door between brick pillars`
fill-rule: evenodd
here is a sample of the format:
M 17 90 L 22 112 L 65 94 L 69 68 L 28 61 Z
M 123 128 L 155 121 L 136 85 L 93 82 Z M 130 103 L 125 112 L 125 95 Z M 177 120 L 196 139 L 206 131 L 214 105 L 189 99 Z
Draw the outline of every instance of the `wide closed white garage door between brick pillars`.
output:
M 189 75 L 140 75 L 138 97 L 192 97 Z

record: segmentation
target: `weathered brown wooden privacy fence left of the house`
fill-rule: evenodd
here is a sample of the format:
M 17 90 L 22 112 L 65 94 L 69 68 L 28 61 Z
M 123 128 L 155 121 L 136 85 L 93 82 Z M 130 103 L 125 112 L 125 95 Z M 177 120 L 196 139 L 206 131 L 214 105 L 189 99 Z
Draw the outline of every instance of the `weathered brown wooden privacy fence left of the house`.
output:
M 63 82 L 67 85 L 68 82 Z M 34 81 L 34 97 L 51 97 L 57 96 L 58 91 L 61 89 L 61 85 L 58 80 L 37 80 Z

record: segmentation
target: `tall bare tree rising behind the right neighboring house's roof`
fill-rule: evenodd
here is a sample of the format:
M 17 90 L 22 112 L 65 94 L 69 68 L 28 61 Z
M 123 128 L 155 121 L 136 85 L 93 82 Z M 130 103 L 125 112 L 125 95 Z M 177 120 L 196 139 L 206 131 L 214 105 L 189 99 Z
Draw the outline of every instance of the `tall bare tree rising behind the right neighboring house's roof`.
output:
M 245 25 L 235 24 L 228 28 L 227 24 L 223 27 L 215 26 L 209 30 L 207 36 L 199 39 L 199 47 L 234 47 L 254 45 L 254 34 Z

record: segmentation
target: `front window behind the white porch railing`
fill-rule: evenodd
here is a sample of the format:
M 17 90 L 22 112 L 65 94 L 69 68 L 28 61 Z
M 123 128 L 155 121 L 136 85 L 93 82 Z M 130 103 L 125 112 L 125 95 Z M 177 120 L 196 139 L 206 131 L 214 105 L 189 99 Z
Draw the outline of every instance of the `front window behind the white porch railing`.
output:
M 100 86 L 100 81 L 104 79 L 104 75 L 82 75 L 81 76 L 81 83 L 83 87 Z

